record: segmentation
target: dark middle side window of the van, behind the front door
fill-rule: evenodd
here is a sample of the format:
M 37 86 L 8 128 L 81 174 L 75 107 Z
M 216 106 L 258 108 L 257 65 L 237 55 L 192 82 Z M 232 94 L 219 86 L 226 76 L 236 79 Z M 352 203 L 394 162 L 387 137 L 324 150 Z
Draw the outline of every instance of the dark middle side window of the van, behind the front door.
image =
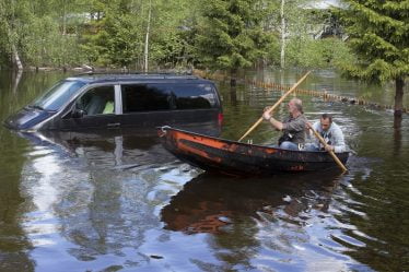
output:
M 121 92 L 124 114 L 171 108 L 171 97 L 164 84 L 122 85 Z

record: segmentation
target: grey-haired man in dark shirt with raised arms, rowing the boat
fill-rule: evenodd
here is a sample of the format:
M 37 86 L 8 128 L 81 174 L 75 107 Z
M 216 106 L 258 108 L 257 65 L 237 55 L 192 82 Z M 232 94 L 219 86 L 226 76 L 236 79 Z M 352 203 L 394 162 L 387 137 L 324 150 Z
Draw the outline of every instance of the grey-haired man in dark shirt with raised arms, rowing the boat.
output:
M 262 118 L 271 123 L 274 129 L 283 131 L 282 137 L 279 139 L 280 149 L 303 150 L 307 120 L 304 116 L 302 100 L 292 98 L 289 102 L 288 109 L 290 115 L 284 118 L 283 121 L 276 120 L 271 114 L 268 113 L 268 107 L 265 108 Z

